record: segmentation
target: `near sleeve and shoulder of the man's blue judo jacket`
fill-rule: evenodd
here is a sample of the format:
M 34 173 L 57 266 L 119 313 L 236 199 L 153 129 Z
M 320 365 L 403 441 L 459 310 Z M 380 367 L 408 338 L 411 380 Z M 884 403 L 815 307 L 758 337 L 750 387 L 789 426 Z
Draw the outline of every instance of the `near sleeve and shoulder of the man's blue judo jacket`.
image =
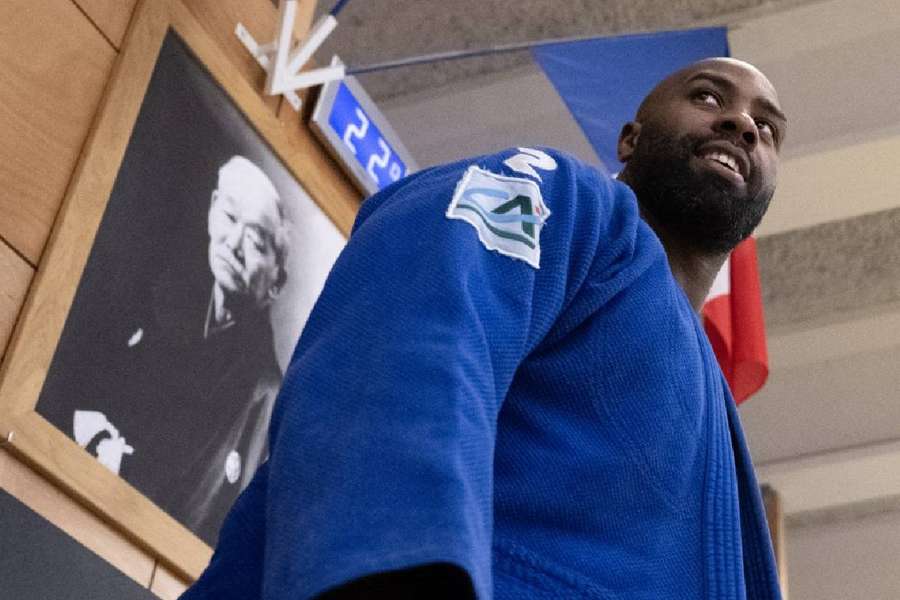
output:
M 433 562 L 491 597 L 498 411 L 581 282 L 629 252 L 623 219 L 637 219 L 609 217 L 624 186 L 558 154 L 526 176 L 516 154 L 424 171 L 363 205 L 285 374 L 269 461 L 185 598 L 312 598 Z M 481 183 L 461 183 L 472 165 Z M 542 228 L 516 180 L 552 211 Z M 481 230 L 448 218 L 466 185 Z M 540 268 L 516 256 L 533 257 L 529 240 Z

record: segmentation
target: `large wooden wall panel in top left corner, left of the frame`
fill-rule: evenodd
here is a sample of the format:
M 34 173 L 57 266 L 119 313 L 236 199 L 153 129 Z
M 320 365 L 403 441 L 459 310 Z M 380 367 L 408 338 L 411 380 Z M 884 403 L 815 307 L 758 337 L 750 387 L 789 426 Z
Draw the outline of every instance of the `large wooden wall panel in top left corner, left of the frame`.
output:
M 115 51 L 70 0 L 4 0 L 0 56 L 0 237 L 36 265 Z

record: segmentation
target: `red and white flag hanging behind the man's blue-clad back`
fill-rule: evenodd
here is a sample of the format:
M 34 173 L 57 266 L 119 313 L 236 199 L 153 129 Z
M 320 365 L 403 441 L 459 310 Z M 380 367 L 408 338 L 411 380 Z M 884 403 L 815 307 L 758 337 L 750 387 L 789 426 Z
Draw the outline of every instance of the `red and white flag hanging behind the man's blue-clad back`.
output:
M 732 251 L 701 313 L 706 335 L 735 402 L 740 404 L 761 388 L 769 375 L 756 240 L 747 238 Z

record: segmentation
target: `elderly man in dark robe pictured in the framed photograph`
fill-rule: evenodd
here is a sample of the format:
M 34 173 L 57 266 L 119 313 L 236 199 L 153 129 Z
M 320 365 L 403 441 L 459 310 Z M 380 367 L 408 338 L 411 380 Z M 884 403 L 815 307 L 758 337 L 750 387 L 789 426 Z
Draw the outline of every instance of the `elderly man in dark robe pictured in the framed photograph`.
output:
M 213 542 L 267 454 L 282 378 L 270 311 L 287 281 L 288 221 L 271 179 L 243 156 L 193 202 L 208 206 L 206 260 L 179 247 L 138 301 L 113 303 L 108 318 L 85 301 L 88 325 L 77 341 L 63 336 L 44 390 L 53 399 L 42 396 L 39 411 Z

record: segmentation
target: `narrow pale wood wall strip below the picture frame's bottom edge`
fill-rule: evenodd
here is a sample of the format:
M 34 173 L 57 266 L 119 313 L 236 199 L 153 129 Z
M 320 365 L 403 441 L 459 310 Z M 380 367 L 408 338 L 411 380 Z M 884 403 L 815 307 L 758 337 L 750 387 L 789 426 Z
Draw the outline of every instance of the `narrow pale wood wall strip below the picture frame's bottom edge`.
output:
M 149 587 L 152 557 L 2 449 L 0 487 L 142 586 Z

